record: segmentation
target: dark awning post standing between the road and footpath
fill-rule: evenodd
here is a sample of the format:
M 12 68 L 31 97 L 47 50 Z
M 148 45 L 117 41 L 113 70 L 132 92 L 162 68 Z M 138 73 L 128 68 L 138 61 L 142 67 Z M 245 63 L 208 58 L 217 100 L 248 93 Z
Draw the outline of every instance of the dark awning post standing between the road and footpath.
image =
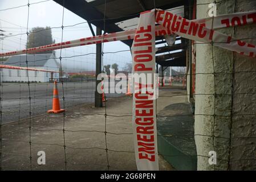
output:
M 101 28 L 96 27 L 96 35 L 101 35 Z M 97 85 L 101 84 L 101 80 L 97 80 L 97 76 L 101 73 L 101 43 L 96 44 L 96 85 L 95 85 L 95 107 L 102 107 L 102 94 L 97 92 Z

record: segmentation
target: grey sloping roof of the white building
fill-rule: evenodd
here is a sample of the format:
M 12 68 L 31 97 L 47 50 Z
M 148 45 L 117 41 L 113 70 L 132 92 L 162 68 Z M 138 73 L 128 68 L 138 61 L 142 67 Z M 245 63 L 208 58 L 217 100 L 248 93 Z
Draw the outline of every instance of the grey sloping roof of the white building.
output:
M 17 55 L 11 56 L 5 61 L 7 65 L 13 65 L 18 67 L 43 67 L 47 60 L 54 57 L 52 53 L 40 53 L 34 55 Z M 26 64 L 26 60 L 28 63 Z

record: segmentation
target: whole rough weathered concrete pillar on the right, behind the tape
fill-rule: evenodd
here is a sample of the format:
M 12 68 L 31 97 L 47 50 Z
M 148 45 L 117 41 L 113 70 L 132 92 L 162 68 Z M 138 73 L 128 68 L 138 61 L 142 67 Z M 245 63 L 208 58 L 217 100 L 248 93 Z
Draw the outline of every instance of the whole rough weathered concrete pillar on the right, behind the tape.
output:
M 197 0 L 197 4 L 209 2 Z M 217 15 L 255 9 L 256 1 L 251 0 L 217 3 Z M 197 19 L 208 17 L 208 11 L 208 4 L 197 5 Z M 256 25 L 251 24 L 218 31 L 242 39 L 255 37 L 255 30 Z M 246 39 L 246 42 L 255 45 L 256 39 Z M 247 138 L 256 137 L 255 58 L 218 47 L 212 49 L 210 44 L 197 44 L 196 49 L 197 169 L 255 170 L 255 160 L 249 159 L 255 159 L 256 141 Z M 216 165 L 208 163 L 209 151 L 217 152 Z

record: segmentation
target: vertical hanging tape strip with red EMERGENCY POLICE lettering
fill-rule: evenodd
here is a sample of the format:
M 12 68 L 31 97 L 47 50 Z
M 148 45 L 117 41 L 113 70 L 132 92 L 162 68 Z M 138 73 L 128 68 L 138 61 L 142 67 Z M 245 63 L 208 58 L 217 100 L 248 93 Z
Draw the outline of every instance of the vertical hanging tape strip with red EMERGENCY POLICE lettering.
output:
M 140 14 L 132 44 L 133 140 L 138 170 L 159 170 L 155 84 L 155 10 Z M 145 76 L 144 76 L 145 75 Z M 144 78 L 143 78 L 144 76 Z M 141 78 L 141 79 L 139 79 Z M 143 92 L 143 88 L 146 88 Z

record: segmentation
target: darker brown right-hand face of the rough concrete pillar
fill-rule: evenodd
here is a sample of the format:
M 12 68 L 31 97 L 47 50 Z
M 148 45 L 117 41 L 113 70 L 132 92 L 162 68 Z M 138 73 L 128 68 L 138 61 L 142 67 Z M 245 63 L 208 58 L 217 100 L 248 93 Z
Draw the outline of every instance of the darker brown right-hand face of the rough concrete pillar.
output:
M 237 0 L 236 11 L 253 11 L 256 1 Z M 256 45 L 256 25 L 235 28 L 236 38 L 254 38 L 245 41 Z M 234 94 L 230 169 L 256 170 L 256 61 L 234 54 Z M 254 137 L 254 138 L 247 138 Z M 247 160 L 248 159 L 248 160 Z M 249 160 L 254 159 L 254 160 Z

